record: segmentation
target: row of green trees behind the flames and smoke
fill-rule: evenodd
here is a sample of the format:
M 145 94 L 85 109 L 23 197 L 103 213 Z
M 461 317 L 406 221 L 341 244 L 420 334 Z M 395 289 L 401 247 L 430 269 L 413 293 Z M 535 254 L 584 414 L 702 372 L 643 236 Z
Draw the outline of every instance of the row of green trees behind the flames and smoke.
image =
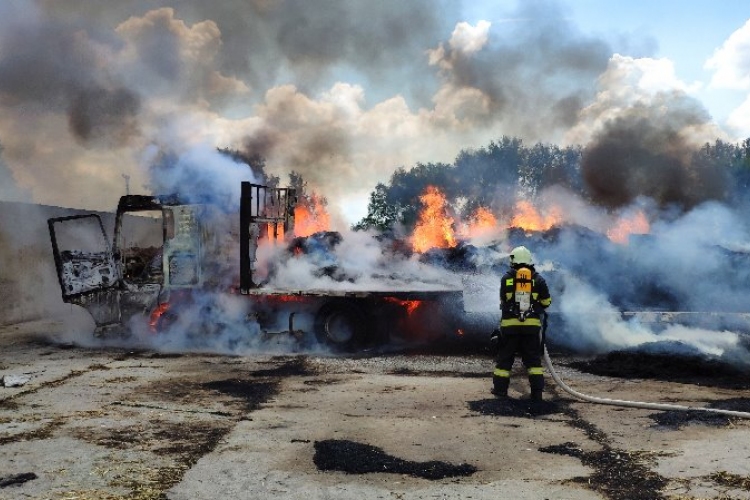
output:
M 450 208 L 466 218 L 478 207 L 500 213 L 508 207 L 502 200 L 532 199 L 545 188 L 562 186 L 596 204 L 596 196 L 582 171 L 586 150 L 581 146 L 560 147 L 537 143 L 526 146 L 517 137 L 503 136 L 478 149 L 462 150 L 452 164 L 418 163 L 398 168 L 387 183 L 378 183 L 370 193 L 367 215 L 353 229 L 392 231 L 397 225 L 412 229 L 422 208 L 420 195 L 427 186 L 441 189 Z M 717 139 L 685 153 L 685 168 L 713 169 L 726 176 L 721 201 L 744 203 L 750 187 L 750 138 L 740 144 Z M 690 175 L 688 173 L 688 175 Z

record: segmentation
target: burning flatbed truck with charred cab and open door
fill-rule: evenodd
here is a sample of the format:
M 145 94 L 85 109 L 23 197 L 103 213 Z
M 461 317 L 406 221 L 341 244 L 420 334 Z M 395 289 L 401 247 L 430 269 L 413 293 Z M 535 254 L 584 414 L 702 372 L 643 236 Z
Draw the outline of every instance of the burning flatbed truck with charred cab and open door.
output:
M 294 189 L 250 182 L 242 182 L 234 212 L 178 195 L 126 195 L 111 241 L 99 215 L 49 219 L 63 301 L 85 308 L 97 335 L 145 328 L 200 336 L 231 323 L 247 335 L 291 335 L 348 351 L 463 333 L 460 287 L 362 289 L 340 279 L 335 289 L 319 289 L 264 280 L 261 244 L 283 245 L 294 258 L 313 243 L 338 241 L 336 233 L 295 237 L 296 204 Z M 334 276 L 335 266 L 319 271 Z M 217 307 L 227 301 L 231 317 Z

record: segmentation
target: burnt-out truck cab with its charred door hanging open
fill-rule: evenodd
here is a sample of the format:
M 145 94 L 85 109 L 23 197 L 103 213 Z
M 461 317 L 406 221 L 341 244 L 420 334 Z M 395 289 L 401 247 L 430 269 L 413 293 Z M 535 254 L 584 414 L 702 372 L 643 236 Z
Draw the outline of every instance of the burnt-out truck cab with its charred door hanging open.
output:
M 148 317 L 172 291 L 201 286 L 203 210 L 176 196 L 123 196 L 111 242 L 97 214 L 49 219 L 63 301 L 88 310 L 102 335 Z

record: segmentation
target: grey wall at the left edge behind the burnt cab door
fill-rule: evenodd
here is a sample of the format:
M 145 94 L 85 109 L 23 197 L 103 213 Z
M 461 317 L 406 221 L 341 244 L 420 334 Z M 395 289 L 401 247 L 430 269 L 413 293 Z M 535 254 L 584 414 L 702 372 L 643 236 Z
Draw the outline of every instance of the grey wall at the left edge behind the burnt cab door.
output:
M 47 219 L 81 213 L 0 201 L 0 325 L 79 313 L 62 301 Z M 111 239 L 114 214 L 98 215 Z

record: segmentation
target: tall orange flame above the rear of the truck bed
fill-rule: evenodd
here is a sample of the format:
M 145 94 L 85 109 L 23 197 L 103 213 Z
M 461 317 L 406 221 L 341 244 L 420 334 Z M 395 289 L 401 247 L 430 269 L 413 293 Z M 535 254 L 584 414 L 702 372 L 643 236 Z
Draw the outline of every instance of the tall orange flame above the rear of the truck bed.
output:
M 414 251 L 426 252 L 430 248 L 456 246 L 454 221 L 446 210 L 445 195 L 438 188 L 427 186 L 419 199 L 425 206 L 419 214 L 419 221 L 412 235 Z

